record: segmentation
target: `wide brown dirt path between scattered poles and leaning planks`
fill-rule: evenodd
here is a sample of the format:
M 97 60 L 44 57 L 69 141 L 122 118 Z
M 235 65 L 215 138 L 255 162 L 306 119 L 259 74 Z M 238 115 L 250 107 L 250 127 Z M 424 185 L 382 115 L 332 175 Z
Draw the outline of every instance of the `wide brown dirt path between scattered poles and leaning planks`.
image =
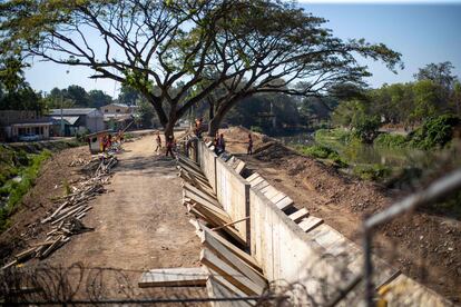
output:
M 108 192 L 92 200 L 84 218 L 95 230 L 72 237 L 46 260 L 63 267 L 80 263 L 92 271 L 110 268 L 101 278 L 106 298 L 125 295 L 127 288 L 129 296 L 143 294 L 136 284 L 144 270 L 199 265 L 199 241 L 182 205 L 176 162 L 156 156 L 153 140 L 149 136 L 124 145 Z M 192 293 L 200 296 L 199 290 Z

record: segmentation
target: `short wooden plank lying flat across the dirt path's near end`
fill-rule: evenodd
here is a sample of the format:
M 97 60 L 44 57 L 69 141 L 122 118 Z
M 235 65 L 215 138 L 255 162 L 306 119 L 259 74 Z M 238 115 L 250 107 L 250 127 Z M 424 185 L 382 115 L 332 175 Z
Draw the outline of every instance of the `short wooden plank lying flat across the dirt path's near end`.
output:
M 143 273 L 138 286 L 147 287 L 203 287 L 208 273 L 203 268 L 161 268 Z

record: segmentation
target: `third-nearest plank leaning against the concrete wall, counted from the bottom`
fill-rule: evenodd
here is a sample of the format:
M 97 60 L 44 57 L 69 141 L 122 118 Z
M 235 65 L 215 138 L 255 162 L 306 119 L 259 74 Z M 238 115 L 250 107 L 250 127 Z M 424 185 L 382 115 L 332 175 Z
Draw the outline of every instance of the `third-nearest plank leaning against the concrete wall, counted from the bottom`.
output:
M 253 283 L 257 284 L 263 288 L 267 286 L 267 281 L 261 273 L 256 271 L 251 266 L 245 264 L 241 258 L 238 258 L 234 252 L 232 252 L 227 247 L 225 247 L 213 236 L 205 231 L 202 231 L 200 241 L 203 245 L 213 250 L 215 255 L 218 256 L 220 259 L 225 260 L 235 269 L 239 270 L 246 277 L 252 279 Z

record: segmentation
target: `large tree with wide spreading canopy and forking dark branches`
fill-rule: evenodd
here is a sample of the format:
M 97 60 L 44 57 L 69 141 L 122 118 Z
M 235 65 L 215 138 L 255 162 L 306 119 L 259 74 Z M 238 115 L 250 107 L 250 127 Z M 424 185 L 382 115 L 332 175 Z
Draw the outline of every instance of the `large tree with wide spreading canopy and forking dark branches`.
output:
M 0 9 L 3 50 L 89 67 L 91 78 L 139 90 L 166 135 L 217 89 L 212 132 L 254 93 L 308 96 L 360 81 L 369 73 L 354 56 L 400 63 L 384 44 L 333 37 L 324 19 L 288 1 L 7 0 Z

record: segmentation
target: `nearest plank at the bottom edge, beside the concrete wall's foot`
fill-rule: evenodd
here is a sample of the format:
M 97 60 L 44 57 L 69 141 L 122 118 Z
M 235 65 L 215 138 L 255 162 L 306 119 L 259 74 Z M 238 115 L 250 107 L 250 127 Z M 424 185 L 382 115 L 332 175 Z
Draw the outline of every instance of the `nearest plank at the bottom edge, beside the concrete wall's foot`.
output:
M 218 280 L 217 279 L 218 275 L 216 274 L 215 276 L 210 276 L 208 280 L 206 281 L 206 290 L 208 293 L 208 297 L 210 298 L 223 298 L 223 297 L 234 298 L 234 297 L 246 296 L 244 293 L 238 290 L 238 288 L 234 287 L 230 283 L 228 283 L 225 278 L 220 278 Z M 224 283 L 226 284 L 227 287 L 223 285 Z M 234 289 L 237 290 L 238 293 L 229 289 L 228 286 L 234 287 Z M 256 303 L 256 301 L 253 300 L 253 303 Z M 239 306 L 249 307 L 249 306 L 253 306 L 247 300 L 210 301 L 210 305 L 213 307 L 239 307 Z

